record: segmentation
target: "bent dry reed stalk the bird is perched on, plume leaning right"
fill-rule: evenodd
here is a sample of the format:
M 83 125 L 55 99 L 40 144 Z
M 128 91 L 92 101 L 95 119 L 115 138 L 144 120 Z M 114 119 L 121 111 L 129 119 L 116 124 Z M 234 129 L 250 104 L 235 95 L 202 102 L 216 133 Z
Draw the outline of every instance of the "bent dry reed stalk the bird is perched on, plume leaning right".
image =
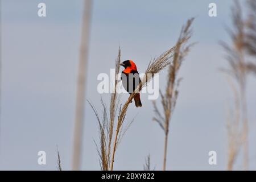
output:
M 184 42 L 187 42 L 188 38 L 181 39 L 179 44 L 183 44 Z M 134 90 L 132 94 L 130 94 L 130 97 L 127 99 L 125 104 L 122 106 L 122 109 L 119 111 L 118 119 L 117 119 L 117 127 L 115 130 L 115 138 L 114 138 L 114 144 L 113 144 L 113 150 L 112 150 L 112 158 L 110 163 L 110 170 L 113 170 L 113 164 L 114 164 L 114 155 L 118 143 L 119 138 L 119 132 L 121 131 L 121 127 L 123 126 L 123 122 L 125 119 L 126 111 L 131 103 L 131 100 L 133 100 L 136 93 L 143 88 L 143 86 L 151 80 L 155 76 L 156 73 L 159 73 L 164 68 L 168 67 L 168 65 L 171 64 L 172 56 L 177 47 L 179 47 L 179 44 L 176 46 L 168 49 L 168 51 L 164 52 L 159 57 L 155 58 L 154 60 L 151 60 L 148 64 L 148 67 L 146 69 L 145 75 L 141 79 L 141 83 L 137 86 L 137 88 Z

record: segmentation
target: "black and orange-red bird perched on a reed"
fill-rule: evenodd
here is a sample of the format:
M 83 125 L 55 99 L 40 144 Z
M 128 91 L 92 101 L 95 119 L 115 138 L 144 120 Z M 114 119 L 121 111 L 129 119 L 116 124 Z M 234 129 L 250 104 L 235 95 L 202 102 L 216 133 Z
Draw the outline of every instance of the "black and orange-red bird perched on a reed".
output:
M 141 78 L 139 77 L 136 64 L 133 62 L 133 60 L 126 60 L 120 65 L 125 68 L 123 69 L 121 75 L 123 88 L 125 88 L 128 93 L 132 94 L 137 86 L 141 83 Z M 141 88 L 139 90 L 141 90 Z M 139 93 L 135 94 L 134 102 L 136 107 L 142 106 Z

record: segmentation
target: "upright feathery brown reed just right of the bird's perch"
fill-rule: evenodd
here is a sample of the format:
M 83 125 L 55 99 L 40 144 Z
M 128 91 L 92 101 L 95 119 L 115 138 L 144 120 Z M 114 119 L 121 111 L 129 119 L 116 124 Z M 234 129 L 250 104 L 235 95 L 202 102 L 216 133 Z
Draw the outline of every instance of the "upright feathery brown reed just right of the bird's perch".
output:
M 159 123 L 159 126 L 164 130 L 164 159 L 163 159 L 163 170 L 166 170 L 166 158 L 167 158 L 167 143 L 168 143 L 168 133 L 169 133 L 169 125 L 172 116 L 172 112 L 174 111 L 176 100 L 178 96 L 178 90 L 180 79 L 177 78 L 177 73 L 180 69 L 180 65 L 184 60 L 184 57 L 189 52 L 189 49 L 193 44 L 189 44 L 188 46 L 184 44 L 183 40 L 189 40 L 192 36 L 191 24 L 193 22 L 193 18 L 187 21 L 187 24 L 181 29 L 179 39 L 176 43 L 176 49 L 174 51 L 174 57 L 172 64 L 169 66 L 168 77 L 167 77 L 167 86 L 166 91 L 163 94 L 160 92 L 162 106 L 164 114 L 160 113 L 160 110 L 156 106 L 156 102 L 153 102 L 155 117 L 154 121 Z

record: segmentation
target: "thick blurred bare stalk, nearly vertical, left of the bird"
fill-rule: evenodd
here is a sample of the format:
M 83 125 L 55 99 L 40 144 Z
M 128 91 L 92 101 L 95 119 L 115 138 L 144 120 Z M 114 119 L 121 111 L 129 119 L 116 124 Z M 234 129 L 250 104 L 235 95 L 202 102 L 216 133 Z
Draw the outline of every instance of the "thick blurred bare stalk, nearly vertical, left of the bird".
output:
M 79 57 L 79 73 L 77 79 L 76 93 L 76 115 L 73 142 L 73 159 L 72 169 L 79 170 L 81 161 L 82 146 L 82 122 L 84 119 L 84 99 L 85 99 L 85 72 L 88 55 L 89 44 L 89 23 L 90 10 L 92 6 L 91 0 L 84 0 L 84 15 L 82 18 L 81 46 Z

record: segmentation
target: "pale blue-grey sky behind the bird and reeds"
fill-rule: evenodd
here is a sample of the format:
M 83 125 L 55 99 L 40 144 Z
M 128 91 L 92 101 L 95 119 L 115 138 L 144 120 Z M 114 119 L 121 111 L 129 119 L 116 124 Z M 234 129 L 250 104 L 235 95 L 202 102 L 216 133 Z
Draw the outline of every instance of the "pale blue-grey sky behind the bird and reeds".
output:
M 38 3 L 47 5 L 47 17 L 37 15 Z M 208 16 L 210 2 L 217 17 Z M 94 1 L 90 31 L 86 98 L 98 110 L 97 75 L 114 68 L 118 46 L 122 60 L 133 59 L 139 72 L 151 57 L 173 46 L 182 24 L 192 16 L 193 42 L 197 42 L 180 76 L 180 95 L 170 126 L 167 169 L 226 168 L 226 107 L 232 101 L 225 76 L 224 51 L 228 40 L 229 1 Z M 243 1 L 241 1 L 243 2 Z M 73 118 L 80 45 L 82 1 L 2 0 L 2 103 L 0 169 L 56 169 L 56 144 L 63 169 L 71 169 Z M 164 88 L 166 72 L 160 74 Z M 247 102 L 250 119 L 250 169 L 256 168 L 255 78 L 250 77 Z M 109 94 L 102 95 L 109 103 Z M 122 102 L 128 97 L 122 96 Z M 143 169 L 150 153 L 156 169 L 162 167 L 163 132 L 152 121 L 153 108 L 142 95 L 142 108 L 132 104 L 127 120 L 136 114 L 115 156 L 114 169 Z M 100 169 L 93 139 L 98 140 L 96 117 L 85 107 L 82 169 Z M 37 153 L 47 153 L 39 166 Z M 217 152 L 217 165 L 208 164 L 208 152 Z M 238 160 L 236 169 L 241 169 Z

